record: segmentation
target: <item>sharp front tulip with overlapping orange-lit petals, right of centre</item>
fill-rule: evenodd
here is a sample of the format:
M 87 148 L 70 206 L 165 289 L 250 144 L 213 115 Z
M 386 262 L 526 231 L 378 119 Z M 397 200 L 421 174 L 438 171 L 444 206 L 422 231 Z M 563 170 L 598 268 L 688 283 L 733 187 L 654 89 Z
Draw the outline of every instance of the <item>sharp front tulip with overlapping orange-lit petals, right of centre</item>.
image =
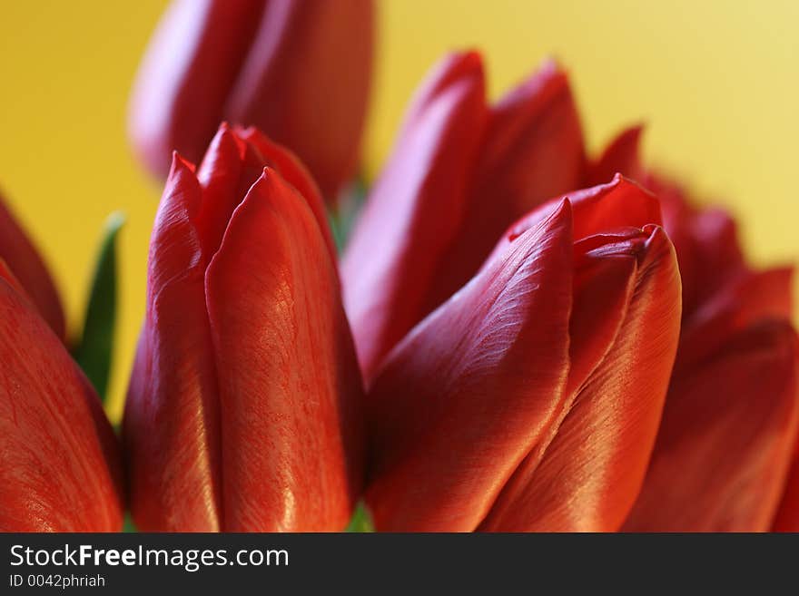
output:
M 618 529 L 679 333 L 659 220 L 621 177 L 548 203 L 391 350 L 367 396 L 378 529 Z

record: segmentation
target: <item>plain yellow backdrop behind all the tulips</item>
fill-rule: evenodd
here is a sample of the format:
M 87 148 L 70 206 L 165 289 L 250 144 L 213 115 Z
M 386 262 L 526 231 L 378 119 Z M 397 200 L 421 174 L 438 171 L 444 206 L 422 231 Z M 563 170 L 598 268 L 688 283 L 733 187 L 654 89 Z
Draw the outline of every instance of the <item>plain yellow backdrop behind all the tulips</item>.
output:
M 72 328 L 105 217 L 122 209 L 129 219 L 113 416 L 143 316 L 160 194 L 131 158 L 125 104 L 164 5 L 0 0 L 0 188 L 53 269 Z M 735 210 L 755 262 L 799 256 L 799 2 L 386 0 L 380 9 L 371 173 L 443 52 L 482 49 L 494 96 L 551 54 L 570 69 L 591 148 L 646 122 L 648 160 Z

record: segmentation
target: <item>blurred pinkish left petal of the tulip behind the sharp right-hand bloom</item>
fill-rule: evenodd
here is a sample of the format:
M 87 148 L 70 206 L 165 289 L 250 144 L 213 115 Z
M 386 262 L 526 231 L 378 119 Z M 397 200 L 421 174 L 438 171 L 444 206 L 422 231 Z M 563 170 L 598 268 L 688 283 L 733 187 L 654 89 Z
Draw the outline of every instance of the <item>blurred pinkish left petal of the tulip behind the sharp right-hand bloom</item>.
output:
M 380 361 L 429 312 L 447 275 L 466 183 L 486 119 L 477 54 L 449 56 L 411 106 L 341 264 L 344 301 L 369 382 Z

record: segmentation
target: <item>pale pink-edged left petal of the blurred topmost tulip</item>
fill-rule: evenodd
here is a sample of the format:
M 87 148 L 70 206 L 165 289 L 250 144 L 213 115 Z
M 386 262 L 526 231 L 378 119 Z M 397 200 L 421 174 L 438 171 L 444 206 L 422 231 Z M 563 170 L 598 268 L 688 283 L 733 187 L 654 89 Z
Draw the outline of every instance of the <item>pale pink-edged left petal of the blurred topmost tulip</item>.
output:
M 263 0 L 175 0 L 163 15 L 133 87 L 128 133 L 163 176 L 180 151 L 198 162 L 252 43 Z

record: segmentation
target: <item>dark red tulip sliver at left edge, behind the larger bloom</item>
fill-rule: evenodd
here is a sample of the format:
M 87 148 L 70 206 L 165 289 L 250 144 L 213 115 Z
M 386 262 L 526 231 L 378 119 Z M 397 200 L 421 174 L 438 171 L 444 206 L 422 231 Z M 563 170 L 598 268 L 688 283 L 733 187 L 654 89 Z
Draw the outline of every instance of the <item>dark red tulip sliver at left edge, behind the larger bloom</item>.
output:
M 44 266 L 44 261 L 25 231 L 5 206 L 0 196 L 0 259 L 14 272 L 14 276 L 25 288 L 39 313 L 53 328 L 56 336 L 64 339 L 64 310 L 55 289 L 53 278 Z

